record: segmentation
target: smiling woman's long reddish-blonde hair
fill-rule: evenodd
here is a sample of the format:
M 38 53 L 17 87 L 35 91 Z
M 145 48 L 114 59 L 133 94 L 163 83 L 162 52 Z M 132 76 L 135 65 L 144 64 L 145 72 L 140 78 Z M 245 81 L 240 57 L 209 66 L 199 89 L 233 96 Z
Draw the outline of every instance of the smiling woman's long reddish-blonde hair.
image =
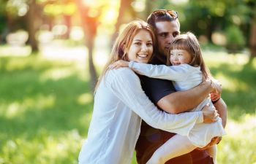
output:
M 110 52 L 110 58 L 108 62 L 105 64 L 102 74 L 99 76 L 99 80 L 95 87 L 94 93 L 96 93 L 97 87 L 99 87 L 99 82 L 101 82 L 102 78 L 105 77 L 105 74 L 109 69 L 108 66 L 110 66 L 110 64 L 115 63 L 117 60 L 129 61 L 129 47 L 131 47 L 132 40 L 140 30 L 148 31 L 152 38 L 153 47 L 155 47 L 156 38 L 154 36 L 154 31 L 152 30 L 151 26 L 148 23 L 146 23 L 143 20 L 133 20 L 132 22 L 128 23 L 124 30 L 121 32 L 121 34 L 118 35 L 115 43 L 113 44 L 113 48 Z

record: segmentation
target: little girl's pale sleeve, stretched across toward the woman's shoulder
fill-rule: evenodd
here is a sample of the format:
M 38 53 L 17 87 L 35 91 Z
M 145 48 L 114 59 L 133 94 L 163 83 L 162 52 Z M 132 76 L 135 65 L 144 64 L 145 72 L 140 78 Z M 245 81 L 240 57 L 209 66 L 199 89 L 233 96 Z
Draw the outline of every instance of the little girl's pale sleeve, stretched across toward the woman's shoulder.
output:
M 129 62 L 129 68 L 138 74 L 157 79 L 168 79 L 173 81 L 185 81 L 189 76 L 189 65 L 181 64 L 178 66 L 153 65 L 147 63 Z

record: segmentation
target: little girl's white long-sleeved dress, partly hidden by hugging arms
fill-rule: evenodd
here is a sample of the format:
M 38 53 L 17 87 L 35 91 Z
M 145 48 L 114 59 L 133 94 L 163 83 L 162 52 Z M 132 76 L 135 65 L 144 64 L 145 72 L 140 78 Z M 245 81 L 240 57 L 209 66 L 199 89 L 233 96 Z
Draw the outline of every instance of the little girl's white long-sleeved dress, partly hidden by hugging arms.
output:
M 129 62 L 129 67 L 147 77 L 172 80 L 176 90 L 189 90 L 190 88 L 199 85 L 203 80 L 203 74 L 200 71 L 200 67 L 194 67 L 188 64 L 165 66 L 135 63 L 132 61 Z M 195 107 L 195 109 L 192 109 L 192 111 L 200 111 L 206 104 L 213 106 L 209 96 Z M 178 134 L 183 135 L 181 133 Z M 222 119 L 218 117 L 217 122 L 195 125 L 187 136 L 196 147 L 205 147 L 210 143 L 211 138 L 223 135 L 225 135 L 225 130 L 222 127 Z

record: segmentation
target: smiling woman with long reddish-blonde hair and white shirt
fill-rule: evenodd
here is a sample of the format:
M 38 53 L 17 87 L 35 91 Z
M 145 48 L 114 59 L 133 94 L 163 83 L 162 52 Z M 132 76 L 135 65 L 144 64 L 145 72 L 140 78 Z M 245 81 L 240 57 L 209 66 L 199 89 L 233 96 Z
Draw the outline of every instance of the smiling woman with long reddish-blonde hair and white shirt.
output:
M 206 117 L 212 121 L 217 116 L 214 110 L 207 114 L 204 110 L 182 114 L 159 111 L 141 89 L 140 79 L 132 70 L 108 68 L 121 59 L 147 63 L 154 44 L 154 33 L 143 20 L 129 23 L 116 39 L 110 61 L 97 84 L 94 112 L 88 138 L 80 151 L 80 164 L 131 163 L 141 119 L 154 128 L 171 131 L 179 128 L 190 130 Z

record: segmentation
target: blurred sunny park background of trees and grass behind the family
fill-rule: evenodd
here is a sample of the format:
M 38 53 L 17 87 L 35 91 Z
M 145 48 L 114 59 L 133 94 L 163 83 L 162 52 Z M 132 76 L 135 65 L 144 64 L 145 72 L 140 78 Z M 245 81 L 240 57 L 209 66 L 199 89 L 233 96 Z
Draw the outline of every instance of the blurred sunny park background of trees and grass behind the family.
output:
M 155 9 L 178 11 L 222 82 L 219 164 L 256 164 L 255 0 L 0 0 L 0 164 L 78 163 L 113 41 Z

